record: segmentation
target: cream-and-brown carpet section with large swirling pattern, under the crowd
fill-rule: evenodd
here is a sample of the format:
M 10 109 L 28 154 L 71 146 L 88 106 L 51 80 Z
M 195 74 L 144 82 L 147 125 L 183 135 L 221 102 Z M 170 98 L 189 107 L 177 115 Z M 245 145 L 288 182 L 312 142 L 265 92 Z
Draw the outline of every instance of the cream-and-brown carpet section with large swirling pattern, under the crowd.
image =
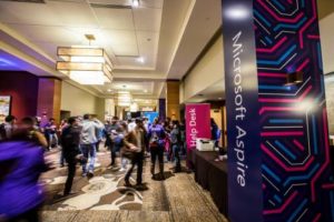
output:
M 51 154 L 59 162 L 60 152 Z M 141 210 L 143 193 L 134 188 L 124 186 L 125 171 L 120 168 L 108 168 L 110 152 L 97 153 L 95 176 L 82 178 L 81 167 L 77 167 L 73 180 L 73 194 L 63 198 L 63 186 L 67 179 L 67 167 L 57 168 L 42 176 L 46 183 L 47 201 L 43 210 Z M 134 171 L 134 176 L 136 175 Z M 135 180 L 131 178 L 131 182 Z

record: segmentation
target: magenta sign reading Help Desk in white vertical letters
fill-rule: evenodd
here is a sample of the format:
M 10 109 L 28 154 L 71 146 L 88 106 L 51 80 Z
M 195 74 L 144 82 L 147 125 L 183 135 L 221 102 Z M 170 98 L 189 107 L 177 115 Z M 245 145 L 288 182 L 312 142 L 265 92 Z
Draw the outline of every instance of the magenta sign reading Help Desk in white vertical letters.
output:
M 196 148 L 197 138 L 212 138 L 210 104 L 186 104 L 187 149 Z

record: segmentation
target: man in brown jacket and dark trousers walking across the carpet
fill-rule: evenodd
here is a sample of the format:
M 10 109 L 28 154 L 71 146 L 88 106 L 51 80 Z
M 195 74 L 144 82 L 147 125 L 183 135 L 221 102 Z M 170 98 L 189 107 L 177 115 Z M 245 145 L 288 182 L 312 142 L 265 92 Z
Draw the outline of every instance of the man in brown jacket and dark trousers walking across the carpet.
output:
M 137 165 L 137 184 L 136 186 L 140 189 L 143 186 L 143 159 L 145 152 L 145 128 L 140 119 L 136 119 L 136 127 L 130 131 L 125 140 L 125 147 L 132 152 L 131 167 L 126 173 L 125 185 L 131 186 L 130 175 L 134 171 L 135 165 Z

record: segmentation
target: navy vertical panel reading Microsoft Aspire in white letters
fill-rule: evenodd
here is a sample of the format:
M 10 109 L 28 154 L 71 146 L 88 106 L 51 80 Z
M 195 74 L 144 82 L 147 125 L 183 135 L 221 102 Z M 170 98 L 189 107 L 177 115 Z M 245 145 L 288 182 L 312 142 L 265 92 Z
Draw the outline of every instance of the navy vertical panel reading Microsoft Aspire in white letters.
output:
M 253 1 L 222 0 L 228 141 L 228 218 L 263 221 Z

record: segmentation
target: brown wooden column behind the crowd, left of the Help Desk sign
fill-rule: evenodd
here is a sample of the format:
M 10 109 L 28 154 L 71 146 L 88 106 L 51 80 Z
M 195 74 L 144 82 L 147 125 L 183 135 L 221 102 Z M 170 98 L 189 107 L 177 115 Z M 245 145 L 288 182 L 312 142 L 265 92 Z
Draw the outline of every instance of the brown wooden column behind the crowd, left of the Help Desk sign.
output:
M 166 82 L 166 113 L 171 120 L 179 120 L 179 81 Z

